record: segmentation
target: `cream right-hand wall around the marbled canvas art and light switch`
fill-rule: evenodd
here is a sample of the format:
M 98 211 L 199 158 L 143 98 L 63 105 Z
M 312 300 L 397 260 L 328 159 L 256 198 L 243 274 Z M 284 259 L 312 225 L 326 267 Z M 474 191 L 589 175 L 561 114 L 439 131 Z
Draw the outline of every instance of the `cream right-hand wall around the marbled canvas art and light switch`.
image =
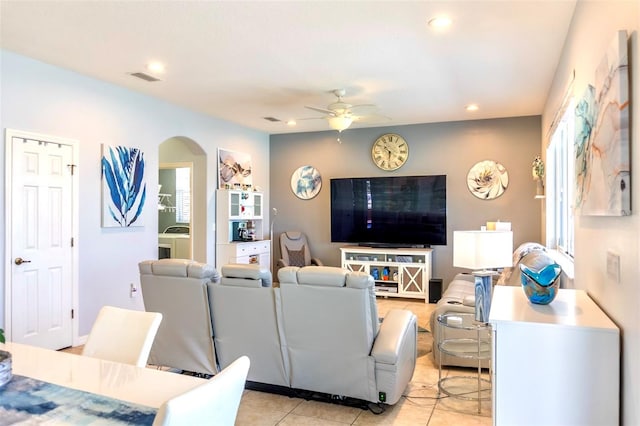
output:
M 640 424 L 640 2 L 580 1 L 576 5 L 562 59 L 543 114 L 542 134 L 551 122 L 557 99 L 567 77 L 575 70 L 574 94 L 582 96 L 586 85 L 595 82 L 594 72 L 618 30 L 630 35 L 631 94 L 631 202 L 630 217 L 576 216 L 575 287 L 586 290 L 622 335 L 621 424 Z M 546 141 L 543 141 L 543 146 Z M 543 150 L 544 152 L 544 150 Z M 607 251 L 620 254 L 621 277 L 607 278 Z M 603 365 L 603 369 L 607 366 Z M 588 407 L 585 407 L 588 409 Z

